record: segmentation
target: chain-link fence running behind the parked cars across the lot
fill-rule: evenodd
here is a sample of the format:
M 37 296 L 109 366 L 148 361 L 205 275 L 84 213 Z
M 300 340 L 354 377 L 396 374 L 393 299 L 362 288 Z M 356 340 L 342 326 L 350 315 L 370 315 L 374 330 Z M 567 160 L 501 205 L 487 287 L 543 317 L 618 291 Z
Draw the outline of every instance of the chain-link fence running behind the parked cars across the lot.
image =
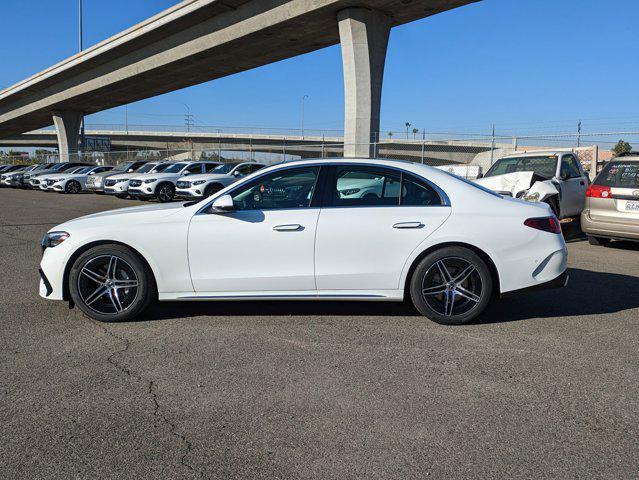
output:
M 569 150 L 578 155 L 586 171 L 591 171 L 593 166 L 599 165 L 601 168 L 602 162 L 612 158 L 611 149 L 618 139 L 623 138 L 630 143 L 639 144 L 639 133 L 633 132 L 537 136 L 406 132 L 404 138 L 398 137 L 399 134 L 393 135 L 389 132 L 385 138 L 371 144 L 344 146 L 339 137 L 221 134 L 213 138 L 193 136 L 170 148 L 128 148 L 70 155 L 39 150 L 38 153 L 25 152 L 11 156 L 5 152 L 0 153 L 0 163 L 73 161 L 117 165 L 135 160 L 214 160 L 273 164 L 295 159 L 338 158 L 346 155 L 407 160 L 439 167 L 471 165 L 478 167 L 479 172 L 485 172 L 505 155 L 537 150 Z M 145 139 L 145 142 L 148 142 L 148 139 Z

